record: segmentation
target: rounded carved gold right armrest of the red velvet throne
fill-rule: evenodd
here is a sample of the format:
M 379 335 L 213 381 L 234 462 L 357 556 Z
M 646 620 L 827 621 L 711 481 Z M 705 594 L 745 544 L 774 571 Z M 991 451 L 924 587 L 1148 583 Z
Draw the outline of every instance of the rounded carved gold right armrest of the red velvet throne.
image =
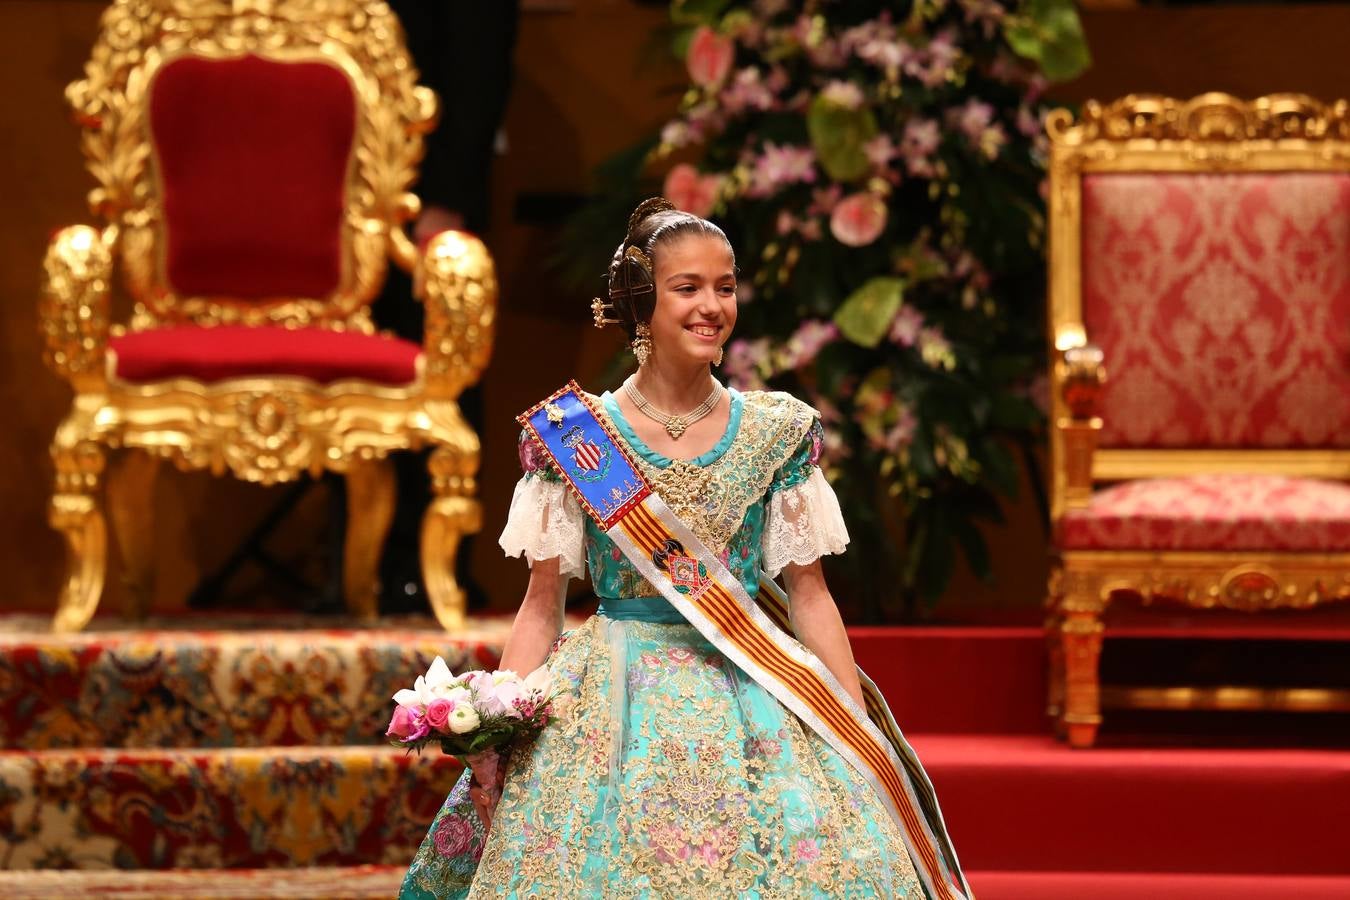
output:
M 491 355 L 497 273 L 487 247 L 463 231 L 436 235 L 418 260 L 414 291 L 427 309 L 427 393 L 454 399 Z

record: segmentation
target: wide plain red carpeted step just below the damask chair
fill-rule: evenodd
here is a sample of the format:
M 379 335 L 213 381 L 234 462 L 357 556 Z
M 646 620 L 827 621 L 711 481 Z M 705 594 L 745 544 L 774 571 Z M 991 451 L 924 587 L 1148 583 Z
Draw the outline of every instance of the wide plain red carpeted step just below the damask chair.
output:
M 914 746 L 971 870 L 1350 874 L 1350 752 Z

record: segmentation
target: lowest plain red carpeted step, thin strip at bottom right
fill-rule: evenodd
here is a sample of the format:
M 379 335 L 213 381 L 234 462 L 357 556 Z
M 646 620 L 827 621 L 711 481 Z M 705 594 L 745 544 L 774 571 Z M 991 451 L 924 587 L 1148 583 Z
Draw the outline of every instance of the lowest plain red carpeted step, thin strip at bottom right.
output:
M 973 872 L 979 900 L 1346 900 L 1350 877 L 1158 872 Z

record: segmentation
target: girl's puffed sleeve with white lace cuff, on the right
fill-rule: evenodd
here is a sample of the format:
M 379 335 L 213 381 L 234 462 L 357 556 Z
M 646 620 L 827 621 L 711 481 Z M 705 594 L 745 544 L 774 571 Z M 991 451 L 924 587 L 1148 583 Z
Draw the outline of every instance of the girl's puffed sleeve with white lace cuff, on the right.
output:
M 825 430 L 815 420 L 801 447 L 774 475 L 768 488 L 763 561 L 770 578 L 786 565 L 806 565 L 848 546 L 848 528 L 834 488 L 821 471 Z

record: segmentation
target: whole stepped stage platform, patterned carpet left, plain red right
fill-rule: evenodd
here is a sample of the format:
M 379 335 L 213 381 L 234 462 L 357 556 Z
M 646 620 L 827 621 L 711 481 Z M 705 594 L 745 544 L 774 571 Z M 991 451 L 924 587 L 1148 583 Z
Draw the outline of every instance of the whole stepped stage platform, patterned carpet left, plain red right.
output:
M 431 619 L 147 625 L 53 636 L 0 617 L 0 896 L 392 896 L 458 765 L 385 745 L 389 698 L 436 654 L 494 665 L 509 618 L 460 636 Z M 1162 746 L 1108 729 L 1069 750 L 1042 712 L 1040 629 L 852 640 L 980 900 L 1350 897 L 1335 733 Z

